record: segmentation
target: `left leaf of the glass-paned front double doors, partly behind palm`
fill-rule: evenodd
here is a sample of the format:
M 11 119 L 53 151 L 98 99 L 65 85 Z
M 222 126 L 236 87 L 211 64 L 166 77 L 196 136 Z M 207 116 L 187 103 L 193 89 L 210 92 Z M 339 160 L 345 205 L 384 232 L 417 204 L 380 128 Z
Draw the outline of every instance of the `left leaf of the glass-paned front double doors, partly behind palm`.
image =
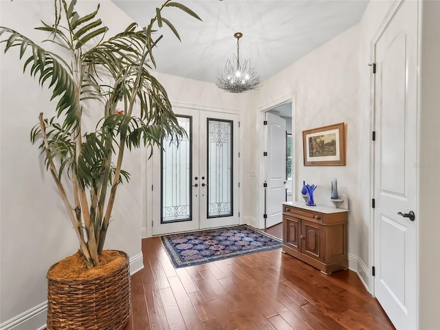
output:
M 199 229 L 199 113 L 179 109 L 178 116 L 188 137 L 153 152 L 153 235 Z

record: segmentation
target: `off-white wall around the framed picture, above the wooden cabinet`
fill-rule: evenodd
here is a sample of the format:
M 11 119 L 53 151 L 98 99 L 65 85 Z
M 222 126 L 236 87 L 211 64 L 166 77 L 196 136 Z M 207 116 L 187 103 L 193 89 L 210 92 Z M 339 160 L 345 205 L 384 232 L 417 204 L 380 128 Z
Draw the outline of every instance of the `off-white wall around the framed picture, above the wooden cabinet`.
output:
M 358 228 L 362 221 L 360 219 L 362 201 L 358 197 L 359 39 L 360 27 L 355 25 L 265 80 L 254 108 L 254 117 L 260 118 L 259 110 L 264 109 L 266 104 L 272 104 L 296 92 L 296 120 L 292 127 L 292 131 L 296 132 L 294 133 L 296 148 L 294 190 L 298 195 L 303 180 L 309 184 L 317 184 L 316 203 L 333 206 L 330 200 L 330 178 L 338 178 L 338 192 L 349 196 L 349 253 L 355 256 L 358 256 L 360 250 Z M 346 123 L 347 166 L 304 166 L 302 131 L 338 122 Z M 258 135 L 255 135 L 254 145 L 250 149 L 258 148 L 258 142 Z M 259 157 L 254 155 L 252 161 L 259 162 Z

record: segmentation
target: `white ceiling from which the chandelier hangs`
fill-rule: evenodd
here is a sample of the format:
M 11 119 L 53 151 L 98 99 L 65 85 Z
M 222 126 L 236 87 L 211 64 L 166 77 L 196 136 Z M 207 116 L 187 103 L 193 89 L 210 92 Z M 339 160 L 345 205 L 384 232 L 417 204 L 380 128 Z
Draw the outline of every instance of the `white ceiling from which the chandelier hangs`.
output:
M 133 21 L 145 26 L 163 1 L 113 0 Z M 177 8 L 162 17 L 168 28 L 153 52 L 157 71 L 214 83 L 236 55 L 235 32 L 242 32 L 240 58 L 250 58 L 262 80 L 326 43 L 362 18 L 367 0 L 199 0 L 177 1 L 196 12 L 193 19 Z

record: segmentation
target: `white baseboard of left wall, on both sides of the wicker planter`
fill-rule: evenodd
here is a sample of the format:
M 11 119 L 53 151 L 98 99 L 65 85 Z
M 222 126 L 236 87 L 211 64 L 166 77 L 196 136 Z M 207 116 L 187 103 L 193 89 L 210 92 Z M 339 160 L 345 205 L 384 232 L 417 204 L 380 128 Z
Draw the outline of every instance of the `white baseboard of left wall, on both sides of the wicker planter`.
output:
M 142 252 L 130 257 L 130 275 L 144 268 L 144 255 Z M 28 311 L 1 323 L 0 330 L 43 330 L 46 327 L 47 301 Z

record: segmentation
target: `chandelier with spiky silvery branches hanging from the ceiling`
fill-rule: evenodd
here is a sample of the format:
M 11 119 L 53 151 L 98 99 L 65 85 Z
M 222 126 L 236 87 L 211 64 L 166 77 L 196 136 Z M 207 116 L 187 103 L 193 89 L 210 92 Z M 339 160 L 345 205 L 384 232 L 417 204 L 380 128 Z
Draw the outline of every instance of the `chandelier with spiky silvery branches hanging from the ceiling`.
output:
M 243 91 L 250 91 L 259 87 L 260 76 L 250 66 L 250 60 L 245 60 L 243 65 L 240 65 L 240 49 L 239 42 L 243 33 L 236 32 L 236 56 L 234 59 L 228 60 L 225 69 L 222 73 L 217 75 L 217 87 L 229 91 L 230 93 L 243 93 Z M 236 61 L 236 67 L 232 65 Z

